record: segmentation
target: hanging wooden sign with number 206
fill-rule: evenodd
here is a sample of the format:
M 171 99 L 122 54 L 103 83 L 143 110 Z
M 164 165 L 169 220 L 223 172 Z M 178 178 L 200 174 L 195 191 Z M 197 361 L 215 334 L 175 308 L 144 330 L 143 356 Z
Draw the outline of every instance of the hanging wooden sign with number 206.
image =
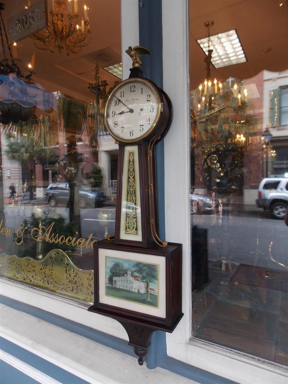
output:
M 48 26 L 47 0 L 36 3 L 8 19 L 8 43 L 23 40 Z

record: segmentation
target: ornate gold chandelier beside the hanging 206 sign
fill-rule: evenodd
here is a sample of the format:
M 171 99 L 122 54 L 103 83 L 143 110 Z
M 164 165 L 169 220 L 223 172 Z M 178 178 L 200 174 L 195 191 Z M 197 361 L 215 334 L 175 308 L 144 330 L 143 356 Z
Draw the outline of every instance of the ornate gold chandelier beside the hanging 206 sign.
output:
M 68 11 L 66 10 L 66 3 Z M 79 53 L 81 48 L 88 45 L 91 40 L 91 30 L 88 19 L 88 8 L 84 5 L 84 19 L 78 25 L 78 2 L 73 0 L 74 14 L 72 13 L 71 0 L 53 0 L 53 7 L 50 10 L 51 20 L 48 22 L 46 30 L 34 33 L 31 39 L 40 50 L 54 52 L 57 48 L 61 54 L 64 47 L 66 55 Z M 54 10 L 56 6 L 56 12 Z

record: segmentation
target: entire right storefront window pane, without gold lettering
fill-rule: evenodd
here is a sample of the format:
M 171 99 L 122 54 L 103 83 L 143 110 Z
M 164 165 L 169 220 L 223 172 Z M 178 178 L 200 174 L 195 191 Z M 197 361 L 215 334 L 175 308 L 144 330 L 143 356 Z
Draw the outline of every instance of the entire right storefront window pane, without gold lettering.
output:
M 194 5 L 192 336 L 287 365 L 287 7 L 216 2 L 200 17 Z M 214 21 L 211 41 L 220 38 L 213 42 L 210 74 L 203 61 L 208 20 Z M 238 64 L 237 52 L 247 62 Z

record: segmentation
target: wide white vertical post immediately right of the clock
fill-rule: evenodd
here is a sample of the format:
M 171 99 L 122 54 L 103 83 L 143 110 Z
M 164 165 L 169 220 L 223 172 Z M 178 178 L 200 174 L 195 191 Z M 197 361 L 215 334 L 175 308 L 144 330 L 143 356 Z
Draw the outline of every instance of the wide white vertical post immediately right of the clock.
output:
M 188 0 L 162 0 L 163 89 L 170 97 L 173 106 L 172 125 L 164 139 L 165 230 L 168 242 L 183 245 L 184 318 L 172 334 L 167 334 L 167 353 L 170 356 L 175 351 L 175 344 L 186 343 L 191 335 L 188 21 Z

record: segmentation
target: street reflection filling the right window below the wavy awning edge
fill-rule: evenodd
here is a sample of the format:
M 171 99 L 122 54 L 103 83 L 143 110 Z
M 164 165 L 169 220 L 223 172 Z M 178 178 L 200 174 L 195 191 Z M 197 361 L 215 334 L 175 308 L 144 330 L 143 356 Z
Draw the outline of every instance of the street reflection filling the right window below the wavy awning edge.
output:
M 228 79 L 217 108 L 202 108 L 199 89 L 191 92 L 190 214 L 193 336 L 286 365 L 288 136 L 281 122 L 288 105 L 282 75 L 277 89 L 268 71 Z M 242 106 L 235 81 L 247 89 Z

